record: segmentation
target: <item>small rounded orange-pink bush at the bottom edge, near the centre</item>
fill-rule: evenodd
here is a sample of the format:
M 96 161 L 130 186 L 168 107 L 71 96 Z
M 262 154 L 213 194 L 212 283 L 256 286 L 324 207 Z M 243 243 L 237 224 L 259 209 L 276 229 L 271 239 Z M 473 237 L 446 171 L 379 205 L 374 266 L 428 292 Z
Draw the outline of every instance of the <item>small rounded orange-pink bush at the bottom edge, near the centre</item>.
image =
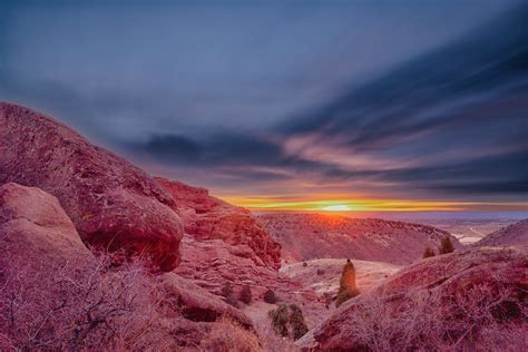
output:
M 257 335 L 225 317 L 213 325 L 211 332 L 202 341 L 199 349 L 211 352 L 263 351 Z

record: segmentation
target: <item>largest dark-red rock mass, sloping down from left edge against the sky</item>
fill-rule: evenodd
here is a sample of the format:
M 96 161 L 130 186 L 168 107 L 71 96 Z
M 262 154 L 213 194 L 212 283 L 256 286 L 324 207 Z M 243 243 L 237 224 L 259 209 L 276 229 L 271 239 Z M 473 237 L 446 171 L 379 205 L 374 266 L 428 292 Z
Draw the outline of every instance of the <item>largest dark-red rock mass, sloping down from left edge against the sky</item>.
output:
M 179 263 L 175 202 L 150 176 L 50 117 L 0 102 L 0 184 L 8 182 L 56 196 L 86 243 L 149 255 L 163 271 Z

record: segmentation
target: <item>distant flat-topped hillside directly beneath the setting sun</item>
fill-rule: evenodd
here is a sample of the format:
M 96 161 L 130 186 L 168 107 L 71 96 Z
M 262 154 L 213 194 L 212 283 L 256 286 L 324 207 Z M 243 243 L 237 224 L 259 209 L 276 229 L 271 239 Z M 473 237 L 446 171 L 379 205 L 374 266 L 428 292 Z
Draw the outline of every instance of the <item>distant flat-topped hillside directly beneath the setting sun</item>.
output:
M 282 245 L 287 262 L 352 258 L 409 264 L 427 246 L 437 248 L 449 233 L 420 224 L 338 215 L 271 213 L 258 221 Z M 451 236 L 456 247 L 461 247 Z

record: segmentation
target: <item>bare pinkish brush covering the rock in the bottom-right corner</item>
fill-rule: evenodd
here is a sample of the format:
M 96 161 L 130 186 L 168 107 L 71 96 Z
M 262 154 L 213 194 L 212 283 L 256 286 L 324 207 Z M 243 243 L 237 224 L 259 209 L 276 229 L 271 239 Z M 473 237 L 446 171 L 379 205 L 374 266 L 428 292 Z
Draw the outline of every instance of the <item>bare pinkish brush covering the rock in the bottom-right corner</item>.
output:
M 369 351 L 522 351 L 527 304 L 510 287 L 476 284 L 452 295 L 408 292 L 368 295 L 344 327 L 353 348 Z

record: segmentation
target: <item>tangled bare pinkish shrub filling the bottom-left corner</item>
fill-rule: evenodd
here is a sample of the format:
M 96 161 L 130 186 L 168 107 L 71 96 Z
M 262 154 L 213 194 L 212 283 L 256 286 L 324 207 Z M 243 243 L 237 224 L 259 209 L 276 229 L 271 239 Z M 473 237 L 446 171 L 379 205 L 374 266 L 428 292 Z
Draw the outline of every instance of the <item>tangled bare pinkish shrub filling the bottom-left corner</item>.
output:
M 17 350 L 164 350 L 156 283 L 139 263 L 4 267 L 0 344 Z M 13 268 L 14 267 L 14 268 Z

